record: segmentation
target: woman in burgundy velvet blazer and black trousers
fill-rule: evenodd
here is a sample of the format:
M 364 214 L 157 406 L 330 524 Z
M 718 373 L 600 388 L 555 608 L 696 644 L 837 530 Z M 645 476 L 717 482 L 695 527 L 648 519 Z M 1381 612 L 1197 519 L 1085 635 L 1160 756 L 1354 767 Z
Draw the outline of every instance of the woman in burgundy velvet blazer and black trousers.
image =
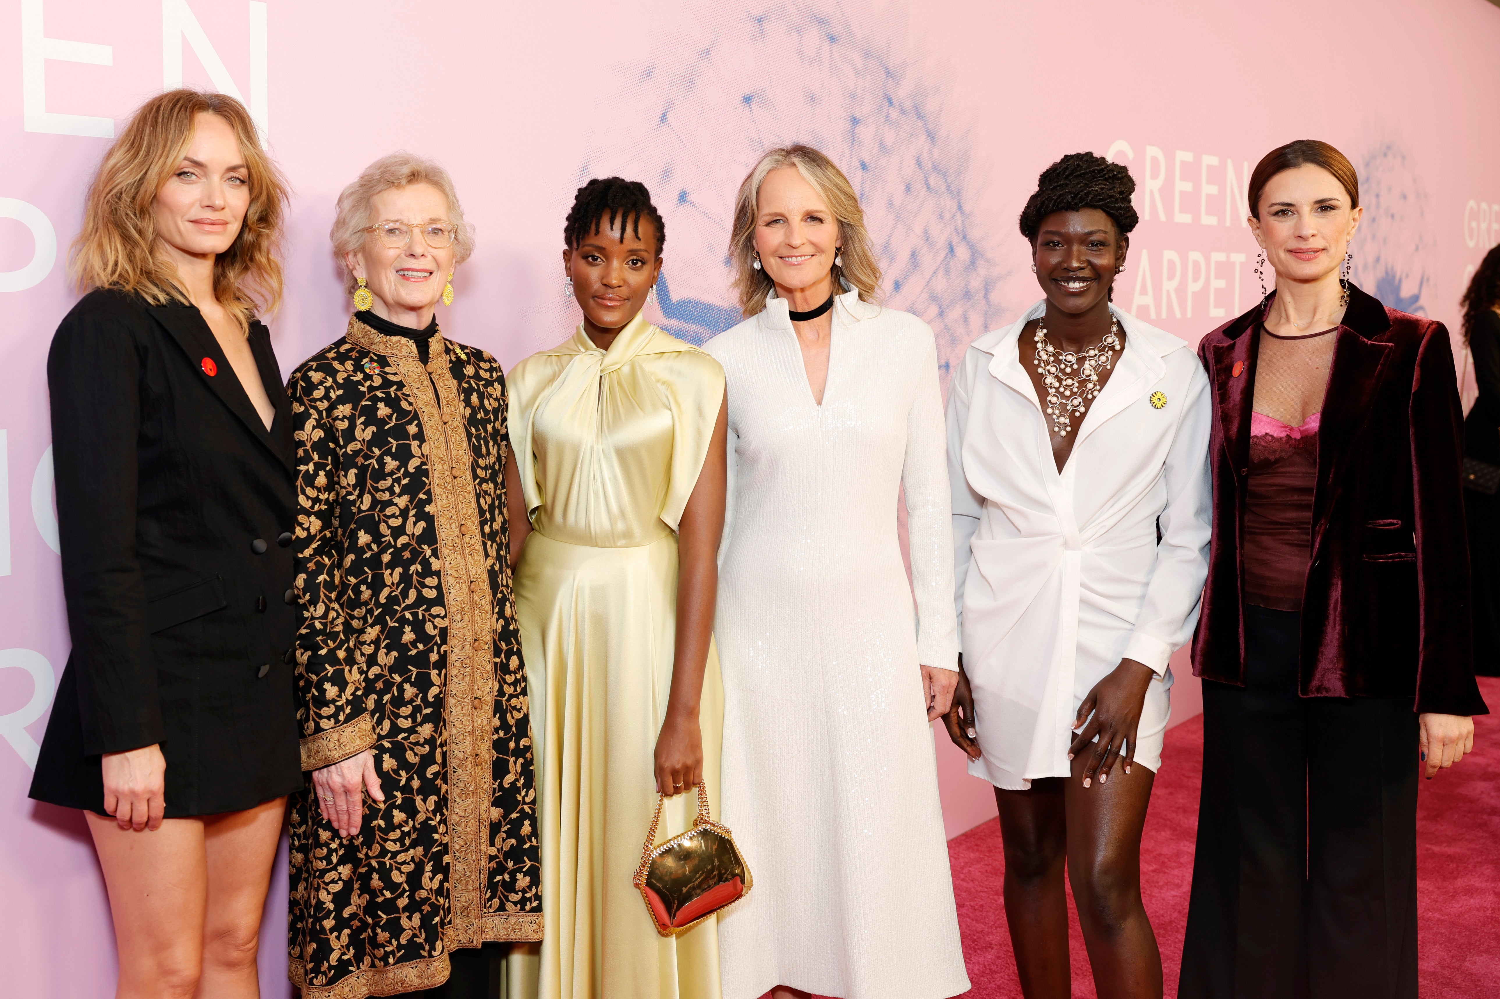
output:
M 1338 150 L 1274 150 L 1246 193 L 1276 288 L 1198 347 L 1214 538 L 1178 996 L 1416 999 L 1418 773 L 1485 713 L 1452 347 L 1347 280 Z

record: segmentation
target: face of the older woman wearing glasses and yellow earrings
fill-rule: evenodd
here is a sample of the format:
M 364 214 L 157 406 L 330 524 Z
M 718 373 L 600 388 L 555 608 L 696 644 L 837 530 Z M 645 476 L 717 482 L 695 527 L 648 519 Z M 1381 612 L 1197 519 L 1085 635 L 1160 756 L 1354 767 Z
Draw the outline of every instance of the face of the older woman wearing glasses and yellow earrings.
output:
M 370 198 L 370 222 L 400 222 L 411 231 L 404 247 L 390 249 L 374 232 L 345 259 L 354 277 L 369 282 L 374 312 L 405 327 L 423 328 L 453 273 L 454 249 L 434 249 L 422 235 L 429 222 L 452 225 L 448 199 L 432 184 L 387 187 Z

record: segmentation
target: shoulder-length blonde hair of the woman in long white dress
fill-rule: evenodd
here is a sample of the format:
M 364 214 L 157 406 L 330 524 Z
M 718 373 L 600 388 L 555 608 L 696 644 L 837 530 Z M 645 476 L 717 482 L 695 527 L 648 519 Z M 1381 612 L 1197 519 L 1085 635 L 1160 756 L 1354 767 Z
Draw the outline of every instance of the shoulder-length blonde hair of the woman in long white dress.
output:
M 860 292 L 860 300 L 878 303 L 880 300 L 880 264 L 874 259 L 874 249 L 870 246 L 870 232 L 864 228 L 864 210 L 860 207 L 860 196 L 854 193 L 854 184 L 843 175 L 831 159 L 810 145 L 783 145 L 760 157 L 754 169 L 740 184 L 740 195 L 735 198 L 735 231 L 729 237 L 729 259 L 734 262 L 735 294 L 740 295 L 740 312 L 750 318 L 765 309 L 765 297 L 774 288 L 771 277 L 764 270 L 754 267 L 754 226 L 760 214 L 758 205 L 760 184 L 766 174 L 783 166 L 795 166 L 813 190 L 822 196 L 824 204 L 838 220 L 838 235 L 843 237 L 843 267 L 834 265 L 834 289 L 843 279 L 850 288 Z

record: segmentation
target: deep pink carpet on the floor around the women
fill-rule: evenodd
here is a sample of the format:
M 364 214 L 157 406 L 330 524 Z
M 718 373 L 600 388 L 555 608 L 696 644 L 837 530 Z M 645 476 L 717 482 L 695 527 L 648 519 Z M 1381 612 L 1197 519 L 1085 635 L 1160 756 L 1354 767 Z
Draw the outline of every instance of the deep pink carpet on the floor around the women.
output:
M 1500 711 L 1500 678 L 1479 681 Z M 1422 782 L 1418 807 L 1418 939 L 1422 999 L 1500 996 L 1500 717 L 1474 719 L 1474 755 Z M 1414 761 L 1413 761 L 1413 765 Z M 1167 996 L 1178 995 L 1188 921 L 1192 842 L 1203 773 L 1203 717 L 1167 732 L 1142 852 L 1142 891 L 1161 944 Z M 963 954 L 974 999 L 1020 999 L 1000 881 L 1005 860 L 992 819 L 948 843 Z M 1070 909 L 1072 899 L 1070 896 Z M 1094 999 L 1094 978 L 1072 915 L 1072 995 Z

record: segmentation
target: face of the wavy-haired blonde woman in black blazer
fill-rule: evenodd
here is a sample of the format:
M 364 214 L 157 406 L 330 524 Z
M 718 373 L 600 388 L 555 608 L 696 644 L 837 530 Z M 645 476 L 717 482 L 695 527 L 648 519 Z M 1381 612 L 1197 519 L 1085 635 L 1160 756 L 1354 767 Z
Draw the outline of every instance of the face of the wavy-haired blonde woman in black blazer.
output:
M 156 235 L 174 259 L 213 259 L 234 244 L 250 205 L 250 174 L 230 123 L 202 112 L 177 169 L 156 192 Z

